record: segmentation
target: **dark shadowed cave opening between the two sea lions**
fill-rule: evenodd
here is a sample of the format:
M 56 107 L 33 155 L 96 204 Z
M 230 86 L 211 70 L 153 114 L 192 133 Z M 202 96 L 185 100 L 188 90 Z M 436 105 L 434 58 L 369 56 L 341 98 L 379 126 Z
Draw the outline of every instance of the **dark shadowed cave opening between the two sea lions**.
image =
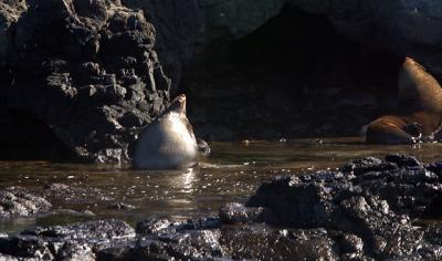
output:
M 396 107 L 402 58 L 347 40 L 324 15 L 285 6 L 244 38 L 220 41 L 183 79 L 202 138 L 355 136 Z

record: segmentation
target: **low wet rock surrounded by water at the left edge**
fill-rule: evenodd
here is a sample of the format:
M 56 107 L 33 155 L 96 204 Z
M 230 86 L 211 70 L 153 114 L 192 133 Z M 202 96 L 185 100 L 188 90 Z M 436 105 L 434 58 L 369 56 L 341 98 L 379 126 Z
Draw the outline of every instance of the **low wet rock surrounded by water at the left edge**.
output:
M 0 190 L 0 218 L 28 217 L 50 211 L 52 205 L 46 199 L 11 187 Z

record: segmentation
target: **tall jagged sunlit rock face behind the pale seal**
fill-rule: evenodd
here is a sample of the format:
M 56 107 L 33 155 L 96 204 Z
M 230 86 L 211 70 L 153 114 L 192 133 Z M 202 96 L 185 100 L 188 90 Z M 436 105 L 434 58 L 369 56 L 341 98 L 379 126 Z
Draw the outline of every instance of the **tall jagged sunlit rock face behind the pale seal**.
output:
M 80 158 L 127 160 L 134 132 L 169 100 L 154 27 L 118 0 L 17 2 L 0 13 L 3 105 L 36 115 Z

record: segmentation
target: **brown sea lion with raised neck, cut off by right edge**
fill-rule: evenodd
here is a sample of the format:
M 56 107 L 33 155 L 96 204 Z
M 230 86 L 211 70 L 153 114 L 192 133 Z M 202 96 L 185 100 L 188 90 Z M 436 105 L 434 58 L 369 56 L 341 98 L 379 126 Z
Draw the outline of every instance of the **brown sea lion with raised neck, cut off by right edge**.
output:
M 399 109 L 368 124 L 366 143 L 431 142 L 442 125 L 442 88 L 423 66 L 407 58 L 399 73 Z

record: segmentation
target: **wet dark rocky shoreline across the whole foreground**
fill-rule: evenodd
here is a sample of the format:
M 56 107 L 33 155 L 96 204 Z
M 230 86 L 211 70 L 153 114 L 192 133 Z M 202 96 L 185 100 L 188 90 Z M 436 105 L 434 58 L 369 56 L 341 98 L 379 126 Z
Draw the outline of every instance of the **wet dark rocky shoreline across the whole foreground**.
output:
M 135 228 L 93 220 L 1 234 L 0 258 L 434 260 L 442 258 L 441 191 L 442 163 L 368 157 L 337 170 L 276 177 L 245 203 L 227 203 L 217 217 L 147 218 Z M 3 218 L 50 209 L 29 195 L 1 195 Z

